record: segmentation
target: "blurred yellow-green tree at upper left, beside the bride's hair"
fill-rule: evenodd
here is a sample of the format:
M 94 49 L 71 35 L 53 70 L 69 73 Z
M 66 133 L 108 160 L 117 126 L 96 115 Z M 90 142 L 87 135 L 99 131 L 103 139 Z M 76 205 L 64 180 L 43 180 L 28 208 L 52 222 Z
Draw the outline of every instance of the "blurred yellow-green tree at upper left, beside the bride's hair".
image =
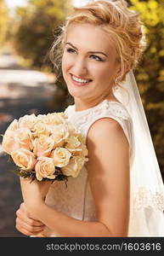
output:
M 32 66 L 45 64 L 54 41 L 54 28 L 65 19 L 68 3 L 68 0 L 29 0 L 26 8 L 17 9 L 20 26 L 14 36 L 14 46 L 20 55 L 31 60 Z

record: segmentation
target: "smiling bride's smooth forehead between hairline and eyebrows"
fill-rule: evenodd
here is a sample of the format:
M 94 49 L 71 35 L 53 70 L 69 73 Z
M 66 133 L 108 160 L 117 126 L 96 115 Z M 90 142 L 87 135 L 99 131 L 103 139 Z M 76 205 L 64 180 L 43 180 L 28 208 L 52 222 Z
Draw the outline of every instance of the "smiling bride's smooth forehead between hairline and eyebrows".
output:
M 100 26 L 92 24 L 71 24 L 67 31 L 66 42 L 70 42 L 78 49 L 116 54 L 110 34 L 107 34 Z

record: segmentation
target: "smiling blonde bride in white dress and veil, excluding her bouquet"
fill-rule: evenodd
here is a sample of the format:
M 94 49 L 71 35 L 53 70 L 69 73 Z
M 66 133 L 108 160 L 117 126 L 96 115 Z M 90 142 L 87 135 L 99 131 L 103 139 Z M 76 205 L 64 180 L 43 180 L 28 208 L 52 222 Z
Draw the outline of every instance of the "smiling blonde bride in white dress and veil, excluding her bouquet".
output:
M 124 0 L 75 8 L 54 42 L 88 162 L 65 183 L 20 178 L 16 228 L 26 236 L 164 236 L 164 189 L 133 69 L 145 48 Z M 54 58 L 53 58 L 54 56 Z

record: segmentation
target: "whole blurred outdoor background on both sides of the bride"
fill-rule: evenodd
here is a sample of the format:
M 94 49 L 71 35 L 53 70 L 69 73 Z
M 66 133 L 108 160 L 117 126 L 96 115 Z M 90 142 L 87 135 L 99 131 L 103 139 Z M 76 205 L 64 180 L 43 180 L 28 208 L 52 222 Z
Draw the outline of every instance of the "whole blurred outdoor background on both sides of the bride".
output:
M 127 2 L 146 26 L 148 45 L 134 74 L 164 177 L 164 0 Z M 47 55 L 55 28 L 72 6 L 84 3 L 88 1 L 0 0 L 0 134 L 25 113 L 64 111 L 71 103 Z M 23 236 L 14 228 L 22 201 L 19 178 L 7 161 L 0 145 L 0 236 Z

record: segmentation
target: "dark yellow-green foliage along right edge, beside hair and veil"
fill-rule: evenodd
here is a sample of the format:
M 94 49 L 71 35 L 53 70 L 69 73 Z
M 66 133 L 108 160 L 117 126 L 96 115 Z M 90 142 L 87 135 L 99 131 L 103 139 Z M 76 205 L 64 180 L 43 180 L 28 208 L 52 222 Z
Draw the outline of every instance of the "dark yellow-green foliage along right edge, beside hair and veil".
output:
M 129 0 L 144 22 L 147 49 L 135 71 L 156 156 L 164 175 L 164 1 Z

